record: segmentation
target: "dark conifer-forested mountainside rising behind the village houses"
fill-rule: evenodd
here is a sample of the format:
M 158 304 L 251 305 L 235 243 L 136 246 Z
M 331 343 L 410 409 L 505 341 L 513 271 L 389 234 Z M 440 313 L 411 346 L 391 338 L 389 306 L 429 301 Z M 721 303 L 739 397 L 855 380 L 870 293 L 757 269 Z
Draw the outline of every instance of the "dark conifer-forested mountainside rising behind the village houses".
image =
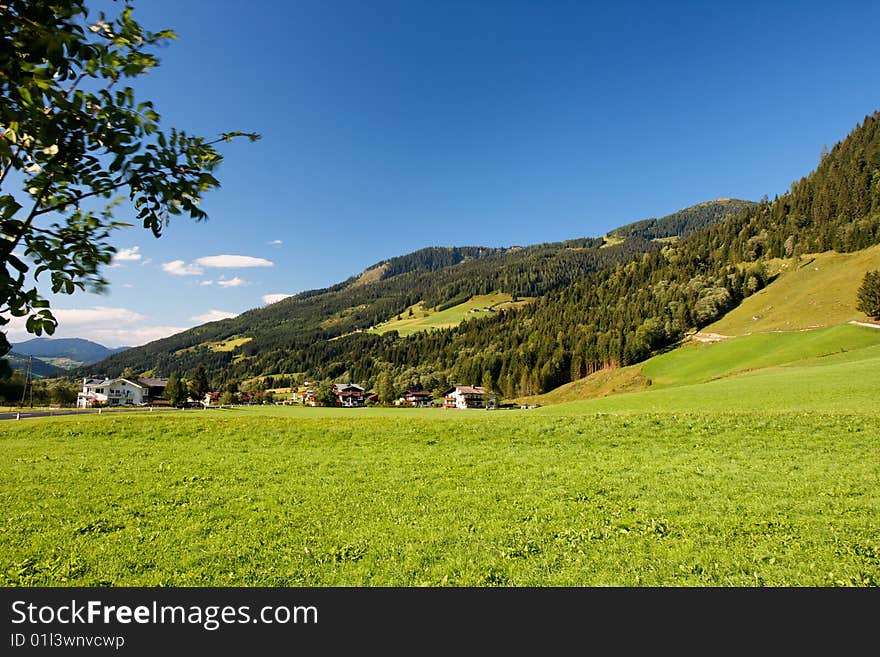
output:
M 352 278 L 198 327 L 114 356 L 102 364 L 103 373 L 124 367 L 186 372 L 203 362 L 216 382 L 301 373 L 371 386 L 384 373 L 397 387 L 482 383 L 514 396 L 639 362 L 761 289 L 765 258 L 852 251 L 880 241 L 878 123 L 880 115 L 866 117 L 790 192 L 746 204 L 675 243 L 646 236 L 669 237 L 671 225 L 687 231 L 708 216 L 705 208 L 692 221 L 679 216 L 625 227 L 627 239 L 612 247 L 580 240 L 457 254 L 425 250 L 378 263 L 386 278 L 376 282 L 355 285 Z M 454 329 L 407 338 L 345 335 L 419 300 L 459 303 L 494 290 L 538 298 Z M 253 339 L 235 354 L 196 347 L 230 335 Z M 179 351 L 187 347 L 195 348 Z

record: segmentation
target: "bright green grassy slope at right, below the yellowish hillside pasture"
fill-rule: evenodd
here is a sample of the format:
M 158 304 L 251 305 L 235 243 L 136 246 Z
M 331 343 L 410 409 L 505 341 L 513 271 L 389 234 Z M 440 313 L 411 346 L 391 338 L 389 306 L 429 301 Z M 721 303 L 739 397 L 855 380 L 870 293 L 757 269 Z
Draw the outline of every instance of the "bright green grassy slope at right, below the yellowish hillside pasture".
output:
M 642 392 L 559 404 L 553 414 L 595 412 L 880 412 L 880 331 L 842 325 L 689 345 L 649 360 Z

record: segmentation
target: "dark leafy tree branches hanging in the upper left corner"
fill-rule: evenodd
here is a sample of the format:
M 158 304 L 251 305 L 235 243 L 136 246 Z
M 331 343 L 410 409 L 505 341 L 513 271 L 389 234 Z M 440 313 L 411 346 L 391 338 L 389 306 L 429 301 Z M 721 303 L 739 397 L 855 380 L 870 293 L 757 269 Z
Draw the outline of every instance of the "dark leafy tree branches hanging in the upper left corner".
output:
M 36 281 L 47 275 L 61 294 L 105 287 L 107 240 L 128 225 L 114 220 L 115 196 L 156 237 L 173 216 L 203 220 L 199 201 L 219 185 L 215 145 L 258 136 L 160 129 L 153 104 L 127 81 L 156 67 L 152 51 L 175 35 L 141 27 L 128 3 L 108 18 L 90 15 L 84 0 L 9 0 L 0 23 L 0 326 L 27 317 L 29 332 L 52 334 Z M 0 355 L 8 349 L 0 334 Z

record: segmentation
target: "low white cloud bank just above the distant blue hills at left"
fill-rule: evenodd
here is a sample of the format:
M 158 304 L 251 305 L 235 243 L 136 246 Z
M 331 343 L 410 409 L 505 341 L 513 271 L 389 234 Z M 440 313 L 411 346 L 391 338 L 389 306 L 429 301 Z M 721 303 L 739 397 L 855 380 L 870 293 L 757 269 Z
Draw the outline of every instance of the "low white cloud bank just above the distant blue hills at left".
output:
M 53 308 L 58 320 L 55 338 L 85 338 L 107 347 L 136 347 L 167 338 L 186 330 L 185 326 L 150 326 L 148 318 L 128 308 Z M 14 317 L 5 327 L 10 342 L 22 342 L 34 337 L 25 330 L 25 318 Z

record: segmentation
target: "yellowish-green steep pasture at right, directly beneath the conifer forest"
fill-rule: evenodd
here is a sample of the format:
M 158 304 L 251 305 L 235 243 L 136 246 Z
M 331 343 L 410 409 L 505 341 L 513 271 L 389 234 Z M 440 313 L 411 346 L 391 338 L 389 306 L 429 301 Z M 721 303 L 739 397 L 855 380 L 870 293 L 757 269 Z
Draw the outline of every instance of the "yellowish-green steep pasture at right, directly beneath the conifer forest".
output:
M 855 309 L 856 292 L 865 272 L 880 269 L 880 246 L 854 253 L 807 255 L 799 265 L 794 261 L 775 264 L 785 265 L 779 278 L 705 330 L 746 335 L 867 319 Z

